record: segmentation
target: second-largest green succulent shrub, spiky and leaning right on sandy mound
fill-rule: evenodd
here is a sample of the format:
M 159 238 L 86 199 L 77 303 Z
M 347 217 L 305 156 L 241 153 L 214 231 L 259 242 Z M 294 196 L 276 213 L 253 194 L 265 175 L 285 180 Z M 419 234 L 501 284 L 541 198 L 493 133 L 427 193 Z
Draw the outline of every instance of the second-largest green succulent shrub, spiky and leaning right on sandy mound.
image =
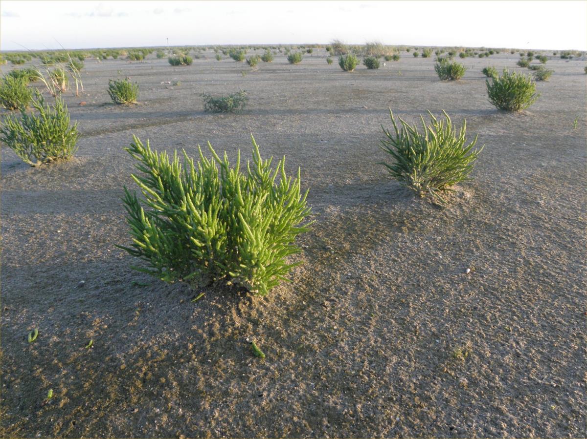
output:
M 465 138 L 467 122 L 457 134 L 450 117 L 444 113 L 444 120 L 437 120 L 430 111 L 430 125 L 420 116 L 423 132 L 417 125 L 410 125 L 400 118 L 401 130 L 397 127 L 390 110 L 394 132 L 383 128 L 385 134 L 380 148 L 390 154 L 394 161 L 386 166 L 390 176 L 419 196 L 430 194 L 437 201 L 442 192 L 465 180 L 473 171 L 473 165 L 481 149 L 474 150 L 477 135 L 467 145 Z

